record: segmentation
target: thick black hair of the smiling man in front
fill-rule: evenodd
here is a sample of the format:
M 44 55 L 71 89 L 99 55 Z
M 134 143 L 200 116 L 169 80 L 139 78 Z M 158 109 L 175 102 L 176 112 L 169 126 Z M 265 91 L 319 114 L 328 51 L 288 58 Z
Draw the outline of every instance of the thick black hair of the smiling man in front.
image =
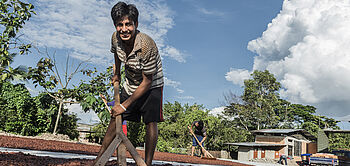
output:
M 116 25 L 124 17 L 128 17 L 134 23 L 138 22 L 139 11 L 134 4 L 126 4 L 125 2 L 118 2 L 111 10 L 111 16 L 114 25 Z

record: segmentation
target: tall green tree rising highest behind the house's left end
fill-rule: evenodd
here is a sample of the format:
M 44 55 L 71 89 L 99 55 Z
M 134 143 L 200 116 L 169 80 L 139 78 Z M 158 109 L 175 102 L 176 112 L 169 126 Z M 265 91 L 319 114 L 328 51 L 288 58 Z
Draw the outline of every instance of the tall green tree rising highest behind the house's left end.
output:
M 276 126 L 278 118 L 274 105 L 278 102 L 279 82 L 269 71 L 255 70 L 252 78 L 244 81 L 241 102 L 230 103 L 226 113 L 236 117 L 246 130 L 260 130 Z

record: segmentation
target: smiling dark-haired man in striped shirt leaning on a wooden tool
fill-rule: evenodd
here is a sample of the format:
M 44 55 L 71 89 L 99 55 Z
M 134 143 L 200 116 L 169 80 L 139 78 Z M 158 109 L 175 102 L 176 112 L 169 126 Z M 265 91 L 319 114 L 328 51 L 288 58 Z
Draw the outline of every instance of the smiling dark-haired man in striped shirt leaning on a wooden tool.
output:
M 115 137 L 115 117 L 146 124 L 145 162 L 152 165 L 158 140 L 157 123 L 163 121 L 163 69 L 158 48 L 148 35 L 137 30 L 138 10 L 133 4 L 118 2 L 111 16 L 116 32 L 112 35 L 111 52 L 116 66 L 112 82 L 120 82 L 121 63 L 125 66 L 125 83 L 120 105 L 112 107 L 112 118 L 102 142 L 99 155 Z

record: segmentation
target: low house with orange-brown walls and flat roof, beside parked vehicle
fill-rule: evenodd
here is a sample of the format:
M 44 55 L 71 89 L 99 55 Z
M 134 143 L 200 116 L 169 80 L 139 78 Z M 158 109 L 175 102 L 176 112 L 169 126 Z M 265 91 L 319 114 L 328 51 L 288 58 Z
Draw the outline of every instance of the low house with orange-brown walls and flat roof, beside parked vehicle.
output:
M 316 138 L 303 129 L 254 130 L 255 142 L 226 143 L 238 146 L 238 160 L 279 159 L 280 155 L 301 161 L 301 154 L 316 153 Z

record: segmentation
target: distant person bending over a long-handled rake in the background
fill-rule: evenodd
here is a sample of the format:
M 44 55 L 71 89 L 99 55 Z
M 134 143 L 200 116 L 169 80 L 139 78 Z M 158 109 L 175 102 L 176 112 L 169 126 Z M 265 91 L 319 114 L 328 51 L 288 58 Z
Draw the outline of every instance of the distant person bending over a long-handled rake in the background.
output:
M 193 127 L 195 128 L 194 130 L 194 135 L 195 137 L 197 137 L 198 141 L 196 140 L 195 137 L 193 137 L 192 139 L 192 152 L 191 152 L 191 156 L 193 156 L 194 150 L 196 148 L 196 146 L 198 146 L 199 144 L 201 144 L 204 147 L 204 140 L 207 138 L 207 132 L 206 129 L 204 127 L 204 123 L 203 121 L 194 121 L 191 125 L 190 128 L 190 132 L 193 132 Z M 203 148 L 201 148 L 201 157 L 202 154 L 204 153 L 204 157 L 207 157 L 207 154 L 205 153 L 205 150 Z

